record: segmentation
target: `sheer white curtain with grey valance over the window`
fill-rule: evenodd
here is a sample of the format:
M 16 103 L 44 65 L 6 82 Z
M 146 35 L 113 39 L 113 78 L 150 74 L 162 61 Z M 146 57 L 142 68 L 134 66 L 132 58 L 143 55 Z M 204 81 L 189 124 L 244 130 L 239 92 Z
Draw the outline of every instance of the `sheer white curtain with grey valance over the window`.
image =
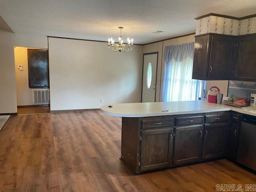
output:
M 193 57 L 194 42 L 165 47 L 164 102 L 203 98 L 204 81 L 192 80 Z

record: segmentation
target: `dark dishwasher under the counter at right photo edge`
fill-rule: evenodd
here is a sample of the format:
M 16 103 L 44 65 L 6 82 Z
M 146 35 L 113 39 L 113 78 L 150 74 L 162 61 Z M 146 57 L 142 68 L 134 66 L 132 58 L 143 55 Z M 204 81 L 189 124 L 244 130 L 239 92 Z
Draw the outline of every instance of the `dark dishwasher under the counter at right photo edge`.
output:
M 236 161 L 256 170 L 256 117 L 242 116 Z

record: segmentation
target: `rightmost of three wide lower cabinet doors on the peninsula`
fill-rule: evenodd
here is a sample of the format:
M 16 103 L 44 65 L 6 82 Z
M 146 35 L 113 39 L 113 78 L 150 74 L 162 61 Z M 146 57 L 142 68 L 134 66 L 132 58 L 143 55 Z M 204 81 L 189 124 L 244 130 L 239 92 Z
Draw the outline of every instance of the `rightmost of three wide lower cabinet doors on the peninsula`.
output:
M 224 155 L 225 135 L 228 123 L 206 124 L 202 159 L 219 158 Z

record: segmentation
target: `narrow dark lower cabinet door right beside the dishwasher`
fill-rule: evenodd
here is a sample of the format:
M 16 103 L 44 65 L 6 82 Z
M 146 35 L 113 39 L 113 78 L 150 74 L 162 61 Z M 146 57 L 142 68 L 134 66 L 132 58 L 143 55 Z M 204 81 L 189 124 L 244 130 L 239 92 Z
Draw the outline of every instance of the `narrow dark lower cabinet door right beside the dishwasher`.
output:
M 231 121 L 230 127 L 228 129 L 228 148 L 227 148 L 227 157 L 231 161 L 235 160 L 238 128 L 239 128 L 239 124 L 237 122 Z

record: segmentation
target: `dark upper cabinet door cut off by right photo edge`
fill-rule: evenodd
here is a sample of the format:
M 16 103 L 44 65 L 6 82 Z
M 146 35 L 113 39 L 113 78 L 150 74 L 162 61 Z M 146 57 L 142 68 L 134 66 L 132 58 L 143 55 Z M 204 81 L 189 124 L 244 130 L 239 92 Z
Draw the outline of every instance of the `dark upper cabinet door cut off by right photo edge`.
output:
M 237 52 L 234 80 L 256 81 L 256 35 L 240 37 Z

